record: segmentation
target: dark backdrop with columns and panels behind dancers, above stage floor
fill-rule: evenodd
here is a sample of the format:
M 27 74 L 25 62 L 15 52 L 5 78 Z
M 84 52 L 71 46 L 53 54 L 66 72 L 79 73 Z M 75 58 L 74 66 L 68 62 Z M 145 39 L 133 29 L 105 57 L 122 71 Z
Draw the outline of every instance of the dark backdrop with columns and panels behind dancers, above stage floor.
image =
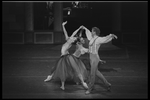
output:
M 69 35 L 80 25 L 90 30 L 97 26 L 101 36 L 116 34 L 116 44 L 147 45 L 147 2 L 83 2 L 78 8 L 71 2 L 3 2 L 3 44 L 61 44 L 61 23 L 66 20 Z

